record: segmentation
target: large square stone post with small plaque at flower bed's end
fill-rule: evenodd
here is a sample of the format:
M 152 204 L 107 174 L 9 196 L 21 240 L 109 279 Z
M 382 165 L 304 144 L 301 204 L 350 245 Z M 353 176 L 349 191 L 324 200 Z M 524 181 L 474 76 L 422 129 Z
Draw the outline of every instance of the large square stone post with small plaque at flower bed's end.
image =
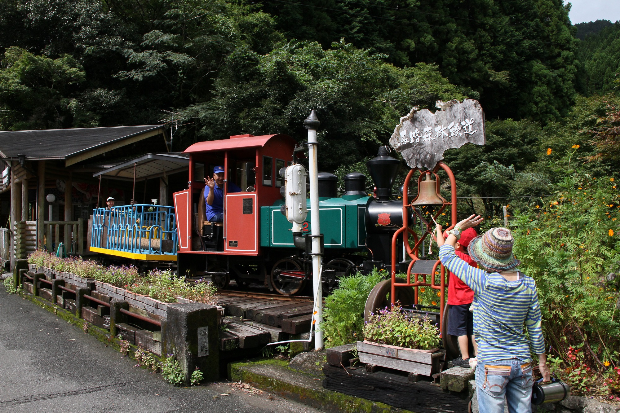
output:
M 162 322 L 164 352 L 174 353 L 190 385 L 196 367 L 206 381 L 219 380 L 218 309 L 202 303 L 175 303 L 167 306 Z

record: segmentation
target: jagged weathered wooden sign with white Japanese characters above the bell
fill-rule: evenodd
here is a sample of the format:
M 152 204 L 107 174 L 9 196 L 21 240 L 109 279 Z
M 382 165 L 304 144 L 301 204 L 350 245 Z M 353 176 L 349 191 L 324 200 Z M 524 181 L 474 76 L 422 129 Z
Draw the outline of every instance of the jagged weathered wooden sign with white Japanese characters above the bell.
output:
M 440 109 L 435 113 L 415 106 L 401 118 L 389 140 L 411 168 L 432 170 L 446 149 L 486 142 L 484 112 L 477 100 L 438 100 L 435 105 Z

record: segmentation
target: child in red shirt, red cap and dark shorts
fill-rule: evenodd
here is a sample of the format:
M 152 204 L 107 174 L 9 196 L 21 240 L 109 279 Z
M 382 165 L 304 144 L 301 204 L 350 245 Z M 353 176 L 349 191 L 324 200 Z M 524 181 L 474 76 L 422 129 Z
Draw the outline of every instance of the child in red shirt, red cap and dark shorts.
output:
M 454 248 L 454 253 L 472 267 L 477 267 L 477 264 L 467 255 L 467 246 L 476 236 L 476 229 L 465 229 Z M 448 234 L 444 233 L 443 238 L 447 237 Z M 448 334 L 458 337 L 459 350 L 461 351 L 461 356 L 452 361 L 454 366 L 469 368 L 469 338 L 474 345 L 474 355 L 477 355 L 476 340 L 474 340 L 474 315 L 469 311 L 472 301 L 474 301 L 474 291 L 456 275 L 450 273 L 448 282 L 448 305 L 450 306 Z

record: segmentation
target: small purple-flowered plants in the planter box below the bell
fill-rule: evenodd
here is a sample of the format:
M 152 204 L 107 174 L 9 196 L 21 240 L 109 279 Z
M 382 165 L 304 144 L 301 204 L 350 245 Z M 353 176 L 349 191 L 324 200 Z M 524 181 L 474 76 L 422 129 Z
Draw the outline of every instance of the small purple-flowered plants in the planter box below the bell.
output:
M 364 326 L 365 339 L 409 349 L 430 350 L 438 347 L 439 329 L 428 318 L 407 318 L 401 307 L 372 314 Z

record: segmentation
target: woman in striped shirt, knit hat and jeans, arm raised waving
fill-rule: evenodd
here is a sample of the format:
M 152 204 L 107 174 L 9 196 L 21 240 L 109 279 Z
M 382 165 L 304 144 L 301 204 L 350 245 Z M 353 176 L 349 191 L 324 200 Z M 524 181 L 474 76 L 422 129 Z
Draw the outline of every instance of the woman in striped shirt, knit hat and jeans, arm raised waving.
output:
M 516 270 L 514 239 L 507 228 L 491 228 L 472 239 L 467 252 L 479 269 L 454 254 L 461 231 L 482 221 L 470 216 L 456 224 L 444 241 L 437 225 L 439 259 L 474 290 L 474 335 L 478 345 L 476 391 L 480 413 L 502 413 L 504 400 L 510 413 L 531 412 L 532 358 L 544 381 L 549 380 L 541 328 L 541 310 L 534 279 Z M 526 336 L 523 326 L 528 331 Z

